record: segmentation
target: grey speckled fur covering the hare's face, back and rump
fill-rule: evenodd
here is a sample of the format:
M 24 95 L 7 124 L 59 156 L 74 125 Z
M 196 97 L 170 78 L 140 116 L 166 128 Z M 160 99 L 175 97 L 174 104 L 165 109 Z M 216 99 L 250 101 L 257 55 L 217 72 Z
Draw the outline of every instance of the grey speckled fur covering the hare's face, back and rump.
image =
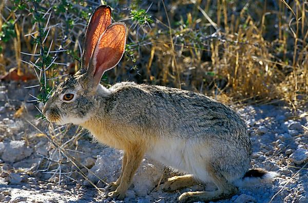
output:
M 75 118 L 109 118 L 117 123 L 115 127 L 129 125 L 143 136 L 177 136 L 204 143 L 212 149 L 211 161 L 227 179 L 243 177 L 248 171 L 251 142 L 244 121 L 232 108 L 192 91 L 133 82 L 110 89 L 100 86 L 92 95 L 83 87 L 84 77 L 76 75 L 60 84 L 45 108 L 52 105 L 50 109 L 57 113 Z M 57 98 L 67 91 L 79 92 L 75 102 Z

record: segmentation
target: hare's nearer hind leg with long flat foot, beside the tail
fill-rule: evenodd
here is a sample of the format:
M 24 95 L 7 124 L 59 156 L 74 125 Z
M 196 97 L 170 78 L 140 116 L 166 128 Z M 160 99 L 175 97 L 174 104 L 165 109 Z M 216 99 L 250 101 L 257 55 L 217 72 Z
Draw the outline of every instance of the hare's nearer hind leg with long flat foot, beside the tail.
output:
M 238 192 L 237 187 L 230 184 L 218 171 L 213 167 L 207 167 L 207 173 L 211 180 L 216 184 L 218 190 L 203 192 L 185 192 L 179 197 L 180 202 L 196 202 L 196 201 L 217 201 L 226 199 Z

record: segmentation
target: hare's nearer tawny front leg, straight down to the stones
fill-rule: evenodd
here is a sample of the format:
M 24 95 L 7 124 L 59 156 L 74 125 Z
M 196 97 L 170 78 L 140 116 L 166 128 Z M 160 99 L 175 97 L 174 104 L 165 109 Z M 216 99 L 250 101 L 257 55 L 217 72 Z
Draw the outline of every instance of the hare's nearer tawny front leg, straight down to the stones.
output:
M 145 154 L 144 146 L 140 144 L 130 145 L 124 151 L 127 158 L 125 167 L 123 168 L 124 170 L 120 180 L 120 184 L 117 190 L 108 193 L 109 197 L 116 198 L 119 200 L 124 199 L 125 193 L 130 186 L 132 178 L 136 173 Z

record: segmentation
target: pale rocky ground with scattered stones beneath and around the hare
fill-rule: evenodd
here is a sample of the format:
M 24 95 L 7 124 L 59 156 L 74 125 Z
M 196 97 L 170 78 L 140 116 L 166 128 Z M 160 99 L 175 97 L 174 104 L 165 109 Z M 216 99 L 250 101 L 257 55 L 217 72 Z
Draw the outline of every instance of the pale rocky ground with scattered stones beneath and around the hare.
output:
M 97 189 L 119 176 L 122 152 L 93 142 L 75 126 L 52 129 L 37 121 L 36 103 L 24 102 L 31 99 L 28 91 L 35 95 L 17 84 L 0 87 L 0 202 L 123 202 L 104 198 L 104 190 Z M 281 176 L 272 184 L 240 188 L 219 202 L 308 202 L 307 115 L 283 105 L 236 110 L 249 128 L 254 167 Z M 160 186 L 171 175 L 145 159 L 124 202 L 176 202 L 186 191 L 214 190 L 211 184 L 196 184 L 164 192 Z

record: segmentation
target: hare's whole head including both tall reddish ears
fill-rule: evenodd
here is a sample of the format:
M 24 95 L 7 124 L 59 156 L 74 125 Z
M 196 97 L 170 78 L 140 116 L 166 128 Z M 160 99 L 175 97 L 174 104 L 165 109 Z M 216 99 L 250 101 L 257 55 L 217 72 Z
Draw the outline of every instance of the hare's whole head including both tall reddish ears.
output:
M 57 86 L 43 108 L 47 120 L 81 124 L 94 115 L 99 106 L 95 96 L 103 73 L 119 63 L 125 43 L 125 24 L 111 24 L 110 7 L 98 7 L 87 27 L 82 68 Z

